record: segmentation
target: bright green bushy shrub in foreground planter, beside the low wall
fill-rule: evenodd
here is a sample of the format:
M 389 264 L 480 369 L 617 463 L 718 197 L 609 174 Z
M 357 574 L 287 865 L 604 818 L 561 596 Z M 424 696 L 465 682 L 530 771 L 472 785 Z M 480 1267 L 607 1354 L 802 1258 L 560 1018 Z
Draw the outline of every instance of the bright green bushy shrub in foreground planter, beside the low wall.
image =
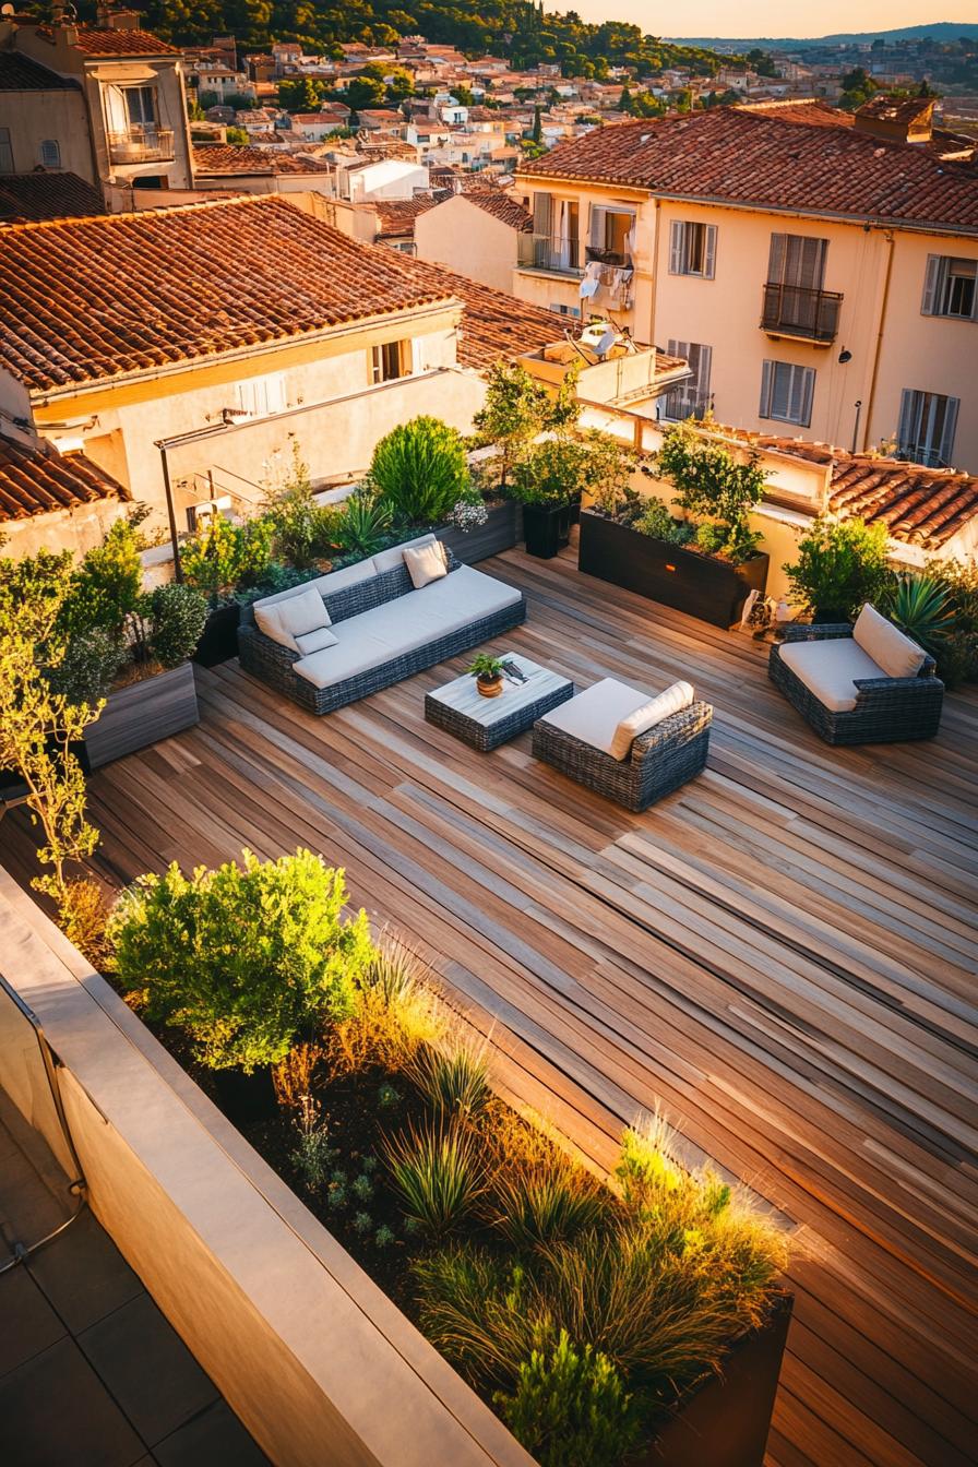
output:
M 211 1069 L 277 1065 L 324 1020 L 353 1012 L 375 954 L 346 877 L 311 851 L 185 876 L 176 863 L 119 898 L 116 971 L 151 1020 L 186 1031 Z

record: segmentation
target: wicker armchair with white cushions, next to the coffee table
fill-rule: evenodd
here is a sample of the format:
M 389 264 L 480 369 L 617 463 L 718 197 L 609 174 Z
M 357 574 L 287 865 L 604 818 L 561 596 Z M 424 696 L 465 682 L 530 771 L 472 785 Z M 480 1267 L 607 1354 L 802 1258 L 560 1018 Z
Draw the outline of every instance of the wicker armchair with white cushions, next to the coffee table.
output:
M 676 684 L 680 687 L 686 688 Z M 534 723 L 534 756 L 628 810 L 647 810 L 698 775 L 710 750 L 710 704 L 692 698 L 689 688 L 686 698 L 674 700 L 685 707 L 663 717 L 670 694 L 672 688 L 650 700 L 647 692 L 604 678 Z M 635 728 L 639 732 L 632 732 Z

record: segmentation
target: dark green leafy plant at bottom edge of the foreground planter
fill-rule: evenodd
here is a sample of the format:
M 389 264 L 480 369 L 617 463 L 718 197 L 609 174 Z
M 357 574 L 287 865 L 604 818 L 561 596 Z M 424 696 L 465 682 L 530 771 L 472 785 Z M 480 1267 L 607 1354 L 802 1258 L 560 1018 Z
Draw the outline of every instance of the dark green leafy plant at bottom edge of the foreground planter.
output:
M 521 1364 L 512 1391 L 493 1400 L 540 1467 L 610 1467 L 641 1432 L 620 1372 L 591 1345 L 575 1350 L 565 1329 Z

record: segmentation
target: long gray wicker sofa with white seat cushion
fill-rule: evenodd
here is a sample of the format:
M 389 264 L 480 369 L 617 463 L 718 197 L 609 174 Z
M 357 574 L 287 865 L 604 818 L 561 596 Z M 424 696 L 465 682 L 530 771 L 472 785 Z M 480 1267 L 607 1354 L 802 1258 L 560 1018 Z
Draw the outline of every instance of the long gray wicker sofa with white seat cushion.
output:
M 406 543 L 424 546 L 422 535 Z M 242 610 L 238 651 L 246 672 L 309 709 L 331 713 L 389 688 L 526 619 L 526 600 L 515 587 L 459 565 L 446 552 L 449 574 L 415 590 L 394 546 L 369 560 L 255 603 L 271 607 L 314 587 L 326 604 L 334 644 L 309 656 L 267 637 L 254 607 Z

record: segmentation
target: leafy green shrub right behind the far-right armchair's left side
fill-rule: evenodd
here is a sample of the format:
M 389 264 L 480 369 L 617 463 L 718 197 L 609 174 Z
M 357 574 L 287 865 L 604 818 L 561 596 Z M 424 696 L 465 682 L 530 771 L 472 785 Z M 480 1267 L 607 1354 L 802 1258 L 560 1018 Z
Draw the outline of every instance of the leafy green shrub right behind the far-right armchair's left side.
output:
M 853 621 L 890 582 L 886 525 L 862 519 L 815 519 L 783 566 L 802 612 L 818 623 Z

